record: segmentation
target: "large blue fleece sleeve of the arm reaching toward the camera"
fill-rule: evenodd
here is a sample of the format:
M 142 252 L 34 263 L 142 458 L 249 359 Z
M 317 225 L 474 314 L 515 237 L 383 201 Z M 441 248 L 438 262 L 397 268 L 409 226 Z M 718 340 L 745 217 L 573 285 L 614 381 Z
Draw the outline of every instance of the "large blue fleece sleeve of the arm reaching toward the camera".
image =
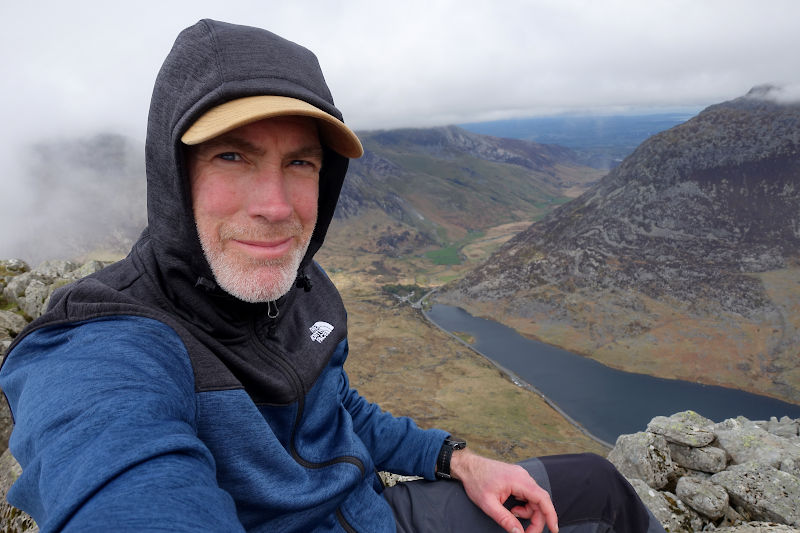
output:
M 177 334 L 139 317 L 33 332 L 0 372 L 23 468 L 8 500 L 42 531 L 243 531 L 197 438 Z

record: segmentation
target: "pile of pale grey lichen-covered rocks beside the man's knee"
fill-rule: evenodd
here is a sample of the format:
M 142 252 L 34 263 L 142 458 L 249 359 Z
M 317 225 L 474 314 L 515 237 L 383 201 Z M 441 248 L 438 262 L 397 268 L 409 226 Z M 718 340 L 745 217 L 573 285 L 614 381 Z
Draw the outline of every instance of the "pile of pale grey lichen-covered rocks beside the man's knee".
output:
M 800 531 L 800 420 L 656 417 L 608 459 L 671 533 Z

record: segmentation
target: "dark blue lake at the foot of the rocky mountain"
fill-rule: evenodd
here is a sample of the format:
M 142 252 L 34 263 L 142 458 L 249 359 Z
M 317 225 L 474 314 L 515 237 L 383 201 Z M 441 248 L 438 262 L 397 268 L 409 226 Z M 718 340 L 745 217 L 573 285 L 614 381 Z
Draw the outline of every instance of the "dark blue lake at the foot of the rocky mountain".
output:
M 434 305 L 428 316 L 447 331 L 475 337 L 476 350 L 517 374 L 596 437 L 614 443 L 644 431 L 654 416 L 693 410 L 721 422 L 739 415 L 800 418 L 800 405 L 725 387 L 631 374 L 548 344 L 527 339 L 463 309 Z

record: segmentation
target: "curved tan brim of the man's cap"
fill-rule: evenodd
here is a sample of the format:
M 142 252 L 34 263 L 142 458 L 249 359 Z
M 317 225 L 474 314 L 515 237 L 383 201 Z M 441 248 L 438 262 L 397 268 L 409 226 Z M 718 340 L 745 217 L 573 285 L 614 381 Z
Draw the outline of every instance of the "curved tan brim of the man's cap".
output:
M 322 143 L 334 152 L 350 158 L 364 154 L 356 134 L 338 118 L 303 100 L 273 95 L 248 96 L 213 107 L 186 130 L 181 141 L 200 144 L 251 122 L 286 115 L 317 119 Z

